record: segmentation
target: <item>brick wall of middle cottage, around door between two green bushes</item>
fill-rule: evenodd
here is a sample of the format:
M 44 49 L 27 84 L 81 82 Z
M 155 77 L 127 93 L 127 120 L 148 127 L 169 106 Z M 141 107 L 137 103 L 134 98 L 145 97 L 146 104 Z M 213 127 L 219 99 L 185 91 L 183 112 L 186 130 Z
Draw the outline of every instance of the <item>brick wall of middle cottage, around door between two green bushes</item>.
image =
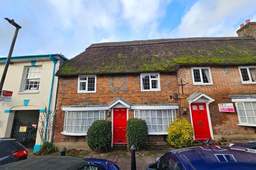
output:
M 132 105 L 173 104 L 173 93 L 178 92 L 176 74 L 160 74 L 161 91 L 141 91 L 140 74 L 97 75 L 97 92 L 77 94 L 77 77 L 60 77 L 56 104 L 56 126 L 54 142 L 84 141 L 84 137 L 62 135 L 65 112 L 64 105 L 109 105 L 121 96 Z M 172 96 L 172 98 L 170 97 Z M 106 112 L 107 113 L 107 112 Z M 129 111 L 129 118 L 134 112 Z M 111 120 L 111 117 L 107 117 Z

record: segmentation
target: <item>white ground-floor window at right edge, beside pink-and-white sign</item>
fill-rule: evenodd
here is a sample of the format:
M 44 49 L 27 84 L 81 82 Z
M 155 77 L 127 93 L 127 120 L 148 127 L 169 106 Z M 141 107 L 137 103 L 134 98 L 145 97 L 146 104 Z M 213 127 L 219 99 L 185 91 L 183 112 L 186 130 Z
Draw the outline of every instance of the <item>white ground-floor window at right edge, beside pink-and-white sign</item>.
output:
M 236 103 L 240 125 L 256 126 L 256 102 Z

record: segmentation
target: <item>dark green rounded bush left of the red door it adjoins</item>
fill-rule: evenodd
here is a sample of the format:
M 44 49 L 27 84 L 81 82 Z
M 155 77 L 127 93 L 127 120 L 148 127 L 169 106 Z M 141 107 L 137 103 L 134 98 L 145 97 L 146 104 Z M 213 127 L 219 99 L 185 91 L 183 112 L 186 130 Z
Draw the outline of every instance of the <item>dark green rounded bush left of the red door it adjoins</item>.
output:
M 98 120 L 92 123 L 87 132 L 87 143 L 93 151 L 107 152 L 111 147 L 111 122 Z

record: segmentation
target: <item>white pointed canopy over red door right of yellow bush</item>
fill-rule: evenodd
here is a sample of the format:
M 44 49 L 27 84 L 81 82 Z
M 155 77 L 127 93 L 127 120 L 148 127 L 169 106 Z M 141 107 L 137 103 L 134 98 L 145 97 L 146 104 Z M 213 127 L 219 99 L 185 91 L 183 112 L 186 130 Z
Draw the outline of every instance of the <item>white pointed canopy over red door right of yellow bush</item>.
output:
M 210 96 L 203 94 L 202 92 L 196 91 L 187 97 L 189 103 L 212 103 L 215 101 Z

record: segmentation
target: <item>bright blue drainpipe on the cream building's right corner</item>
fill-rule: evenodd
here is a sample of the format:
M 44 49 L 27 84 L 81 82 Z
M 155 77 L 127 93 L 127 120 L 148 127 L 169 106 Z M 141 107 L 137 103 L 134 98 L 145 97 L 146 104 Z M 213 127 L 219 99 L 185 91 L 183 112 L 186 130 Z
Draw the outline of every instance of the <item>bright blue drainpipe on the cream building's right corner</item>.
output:
M 48 108 L 47 108 L 46 125 L 45 125 L 45 133 L 44 133 L 44 144 L 46 143 L 46 133 L 47 133 L 47 129 L 48 129 L 49 114 L 50 114 L 50 107 L 51 107 L 51 101 L 52 101 L 52 89 L 53 89 L 53 81 L 54 81 L 54 75 L 55 75 L 55 66 L 57 63 L 57 60 L 54 57 L 52 57 L 52 55 L 50 55 L 50 59 L 53 62 L 53 72 L 52 72 L 50 98 L 49 98 L 49 104 L 48 104 Z

